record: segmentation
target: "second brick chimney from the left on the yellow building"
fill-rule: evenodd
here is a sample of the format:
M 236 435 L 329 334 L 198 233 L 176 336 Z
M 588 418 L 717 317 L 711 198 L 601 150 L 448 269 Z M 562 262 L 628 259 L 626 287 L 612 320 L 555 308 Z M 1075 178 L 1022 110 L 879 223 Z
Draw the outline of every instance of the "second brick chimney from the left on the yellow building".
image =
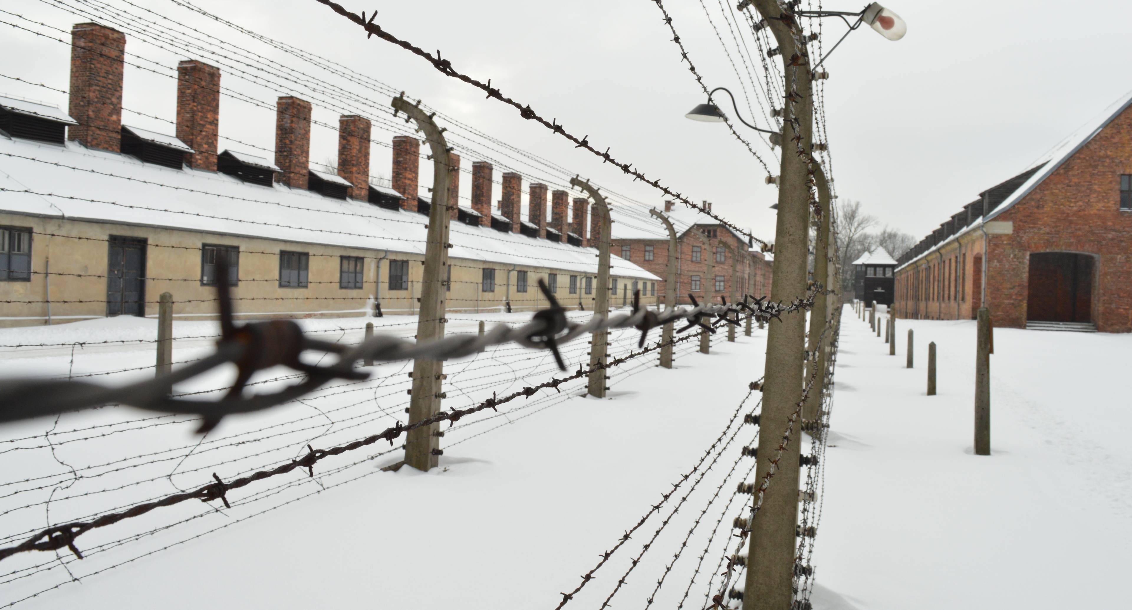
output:
M 216 137 L 220 132 L 220 68 L 189 60 L 177 65 L 177 138 L 195 153 L 185 153 L 185 164 L 216 171 Z

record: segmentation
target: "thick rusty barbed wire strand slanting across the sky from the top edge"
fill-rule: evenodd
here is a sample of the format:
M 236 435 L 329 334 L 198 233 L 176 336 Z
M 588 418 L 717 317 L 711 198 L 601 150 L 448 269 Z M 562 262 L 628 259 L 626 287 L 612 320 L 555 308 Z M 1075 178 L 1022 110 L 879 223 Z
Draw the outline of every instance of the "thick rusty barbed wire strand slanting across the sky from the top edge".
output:
M 351 22 L 353 22 L 353 23 L 362 26 L 362 28 L 365 28 L 366 32 L 369 34 L 367 37 L 376 35 L 377 37 L 379 37 L 381 40 L 385 40 L 387 42 L 396 44 L 397 46 L 401 46 L 402 49 L 405 49 L 406 51 L 410 51 L 411 53 L 413 53 L 413 54 L 415 54 L 415 55 L 424 59 L 429 63 L 431 63 L 434 68 L 436 68 L 437 70 L 439 70 L 445 76 L 449 76 L 452 78 L 456 78 L 458 80 L 468 83 L 469 85 L 472 85 L 472 86 L 479 88 L 480 91 L 487 93 L 488 98 L 492 98 L 494 97 L 494 98 L 496 98 L 496 100 L 498 100 L 498 101 L 500 101 L 500 102 L 503 102 L 503 103 L 505 103 L 505 104 L 507 104 L 509 106 L 515 108 L 516 110 L 518 110 L 520 115 L 522 118 L 528 119 L 528 120 L 533 120 L 533 121 L 542 124 L 547 129 L 550 129 L 555 134 L 558 134 L 561 137 L 571 140 L 572 143 L 575 144 L 575 148 L 585 148 L 586 151 L 589 151 L 589 152 L 593 153 L 594 155 L 601 157 L 603 160 L 603 162 L 611 163 L 612 165 L 615 165 L 616 167 L 620 169 L 626 174 L 634 177 L 635 180 L 641 180 L 642 182 L 644 182 L 644 183 L 646 183 L 646 184 L 649 184 L 649 186 L 651 186 L 651 187 L 660 190 L 664 195 L 667 195 L 667 196 L 669 196 L 669 197 L 671 197 L 671 198 L 680 201 L 681 204 L 684 204 L 684 205 L 686 205 L 686 206 L 688 206 L 688 207 L 691 207 L 693 209 L 696 209 L 696 211 L 698 211 L 700 213 L 702 213 L 702 214 L 704 214 L 706 216 L 715 218 L 721 224 L 728 226 L 732 231 L 735 231 L 735 232 L 737 232 L 737 233 L 739 233 L 741 235 L 746 235 L 746 237 L 748 237 L 748 238 L 757 241 L 760 244 L 762 244 L 764 247 L 769 247 L 770 246 L 769 242 L 766 242 L 766 241 L 764 241 L 764 240 L 755 237 L 754 234 L 752 234 L 751 231 L 747 231 L 745 229 L 740 229 L 739 226 L 736 226 L 735 224 L 732 224 L 731 222 L 727 221 L 726 218 L 723 218 L 723 217 L 721 217 L 721 216 L 712 213 L 705 206 L 702 206 L 702 205 L 693 203 L 691 199 L 688 199 L 687 197 L 685 197 L 683 194 L 676 192 L 676 191 L 671 190 L 668 187 L 661 186 L 660 184 L 660 180 L 653 180 L 653 179 L 650 179 L 650 178 L 645 177 L 644 173 L 642 173 L 640 170 L 634 170 L 632 163 L 623 163 L 623 162 L 617 161 L 612 155 L 609 154 L 609 148 L 606 148 L 606 151 L 603 153 L 599 152 L 597 148 L 593 147 L 593 145 L 590 144 L 590 139 L 589 139 L 590 137 L 589 137 L 589 135 L 583 136 L 582 138 L 578 138 L 577 136 L 574 136 L 574 135 L 567 132 L 566 129 L 561 124 L 558 124 L 557 119 L 551 119 L 550 121 L 548 121 L 544 118 L 542 118 L 541 115 L 539 115 L 537 112 L 534 112 L 534 110 L 531 109 L 530 104 L 523 105 L 523 104 L 521 104 L 521 103 L 512 100 L 511 97 L 505 96 L 498 88 L 491 86 L 491 80 L 490 79 L 488 79 L 487 83 L 481 83 L 481 81 L 479 81 L 479 80 L 477 80 L 477 79 L 474 79 L 474 78 L 472 78 L 470 76 L 466 76 L 466 75 L 463 75 L 463 74 L 456 71 L 452 67 L 452 61 L 451 60 L 443 59 L 440 57 L 440 51 L 439 50 L 437 51 L 436 57 L 432 57 L 432 54 L 429 53 L 428 51 L 424 51 L 421 48 L 415 46 L 415 45 L 413 45 L 413 44 L 411 44 L 411 43 L 409 43 L 406 41 L 403 41 L 403 40 L 394 36 L 393 34 L 386 32 L 385 29 L 381 28 L 380 25 L 374 23 L 374 17 L 376 17 L 376 15 L 377 15 L 376 11 L 375 11 L 375 14 L 372 16 L 370 16 L 369 20 L 366 20 L 360 15 L 357 15 L 354 12 L 350 12 L 349 10 L 346 10 L 345 8 L 343 8 L 342 5 L 338 5 L 337 2 L 333 2 L 331 0 L 315 0 L 315 1 L 319 2 L 319 3 L 323 3 L 323 5 L 326 5 L 332 10 L 334 10 L 334 12 L 337 12 L 338 15 L 341 15 L 341 16 L 350 19 Z

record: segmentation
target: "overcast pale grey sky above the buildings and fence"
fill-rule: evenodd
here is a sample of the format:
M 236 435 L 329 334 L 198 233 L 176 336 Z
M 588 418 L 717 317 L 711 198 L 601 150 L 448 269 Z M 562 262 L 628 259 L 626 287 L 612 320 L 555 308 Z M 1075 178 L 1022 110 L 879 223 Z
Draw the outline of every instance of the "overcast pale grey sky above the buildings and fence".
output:
M 724 20 L 734 10 L 730 1 L 668 0 L 666 7 L 705 81 L 739 94 L 740 111 L 751 121 L 740 79 L 709 23 L 710 16 L 746 83 L 748 72 Z M 130 2 L 332 85 L 363 91 L 179 7 L 174 0 Z M 108 15 L 100 6 L 103 3 L 156 19 L 123 0 L 6 0 L 0 9 L 69 31 L 71 24 L 87 20 L 74 15 L 74 10 Z M 358 26 L 314 0 L 194 3 L 404 89 L 455 119 L 614 191 L 657 206 L 664 198 L 609 165 L 602 166 L 600 160 L 573 148 L 541 126 L 523 120 L 513 109 L 487 101 L 471 86 L 444 77 L 409 52 L 376 37 L 367 40 Z M 756 235 L 773 237 L 773 211 L 769 206 L 777 199 L 777 189 L 763 183 L 765 172 L 758 162 L 723 126 L 684 119 L 685 112 L 703 101 L 703 94 L 680 63 L 653 0 L 344 0 L 343 5 L 367 14 L 378 9 L 377 23 L 391 33 L 426 50 L 439 49 L 457 70 L 481 80 L 490 78 L 506 95 L 530 103 L 540 114 L 557 118 L 580 137 L 588 135 L 595 147 L 610 147 L 618 160 L 633 163 L 646 175 L 660 178 L 693 199 L 713 201 L 715 211 L 751 226 Z M 859 10 L 864 3 L 826 1 L 823 6 Z M 886 6 L 908 22 L 903 40 L 890 42 L 864 27 L 850 34 L 825 65 L 830 71 L 825 109 L 832 175 L 839 196 L 861 200 L 882 222 L 917 238 L 974 200 L 980 190 L 1024 170 L 1089 117 L 1132 89 L 1132 72 L 1127 70 L 1132 57 L 1132 37 L 1127 35 L 1132 2 L 893 0 Z M 0 20 L 69 37 L 8 14 L 0 14 Z M 113 25 L 110 18 L 98 20 Z M 824 48 L 829 49 L 844 32 L 844 25 L 826 19 L 824 26 Z M 68 46 L 7 25 L 2 32 L 0 74 L 67 88 Z M 127 34 L 128 52 L 163 66 L 175 66 L 178 59 L 189 55 L 169 49 L 171 43 L 161 43 L 166 46 L 161 50 L 138 35 Z M 751 38 L 746 40 L 756 55 L 746 58 L 754 63 L 751 74 L 761 79 L 761 59 Z M 215 46 L 207 52 L 213 51 Z M 198 57 L 194 59 L 209 61 L 206 51 L 195 54 Z M 224 70 L 222 85 L 268 106 L 274 106 L 281 93 L 278 86 L 240 79 L 229 69 Z M 0 79 L 2 93 L 66 108 L 62 94 L 8 79 Z M 385 93 L 370 91 L 366 95 L 372 108 L 388 105 L 389 95 Z M 311 101 L 316 120 L 337 123 L 341 109 Z M 751 103 L 757 112 L 754 97 Z M 734 113 L 727 104 L 727 112 Z M 171 119 L 175 113 L 175 84 L 168 77 L 127 67 L 123 105 Z M 359 110 L 357 105 L 351 109 Z M 168 123 L 152 119 L 126 114 L 123 120 L 172 131 Z M 764 126 L 765 119 L 760 115 L 755 122 Z M 452 129 L 454 135 L 462 132 Z M 756 152 L 777 166 L 774 153 L 753 132 L 741 126 L 739 129 L 752 136 L 752 141 L 758 144 Z M 221 136 L 273 148 L 273 111 L 225 97 Z M 316 126 L 312 161 L 333 158 L 336 137 L 333 130 Z M 375 139 L 389 141 L 392 137 L 393 131 L 375 123 Z M 484 147 L 478 149 L 484 155 L 496 154 Z M 465 166 L 477 160 L 475 154 L 464 154 Z M 375 174 L 388 175 L 388 148 L 374 147 L 372 167 Z M 518 170 L 524 172 L 524 167 Z M 535 179 L 546 177 L 544 181 L 563 181 L 560 174 L 550 175 L 544 169 L 524 173 L 538 174 Z M 422 182 L 427 182 L 427 172 L 422 174 Z M 465 179 L 462 195 L 468 196 L 470 187 Z

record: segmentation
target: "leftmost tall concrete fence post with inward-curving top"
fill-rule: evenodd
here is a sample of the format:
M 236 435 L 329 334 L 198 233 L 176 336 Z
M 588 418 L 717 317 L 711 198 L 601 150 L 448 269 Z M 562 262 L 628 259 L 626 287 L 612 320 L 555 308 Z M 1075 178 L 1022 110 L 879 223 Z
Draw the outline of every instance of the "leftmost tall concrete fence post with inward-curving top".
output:
M 421 277 L 420 311 L 417 321 L 417 341 L 436 340 L 444 336 L 445 278 L 448 276 L 448 221 L 452 218 L 448 201 L 451 172 L 449 148 L 444 132 L 432 122 L 431 117 L 420 106 L 403 97 L 393 100 L 394 115 L 404 112 L 424 132 L 432 152 L 432 207 L 429 209 L 428 235 L 424 246 L 424 273 Z M 444 379 L 444 362 L 418 358 L 413 361 L 412 397 L 409 402 L 409 423 L 417 423 L 440 411 L 440 380 Z M 410 430 L 405 439 L 405 463 L 428 471 L 437 466 L 440 450 L 439 424 Z

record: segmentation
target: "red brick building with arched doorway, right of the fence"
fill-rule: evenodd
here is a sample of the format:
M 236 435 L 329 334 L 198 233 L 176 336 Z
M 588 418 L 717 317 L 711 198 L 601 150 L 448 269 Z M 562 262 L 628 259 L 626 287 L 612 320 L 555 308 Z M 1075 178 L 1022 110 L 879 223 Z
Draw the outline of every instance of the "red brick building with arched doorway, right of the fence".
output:
M 1132 332 L 1132 95 L 900 258 L 903 318 Z

